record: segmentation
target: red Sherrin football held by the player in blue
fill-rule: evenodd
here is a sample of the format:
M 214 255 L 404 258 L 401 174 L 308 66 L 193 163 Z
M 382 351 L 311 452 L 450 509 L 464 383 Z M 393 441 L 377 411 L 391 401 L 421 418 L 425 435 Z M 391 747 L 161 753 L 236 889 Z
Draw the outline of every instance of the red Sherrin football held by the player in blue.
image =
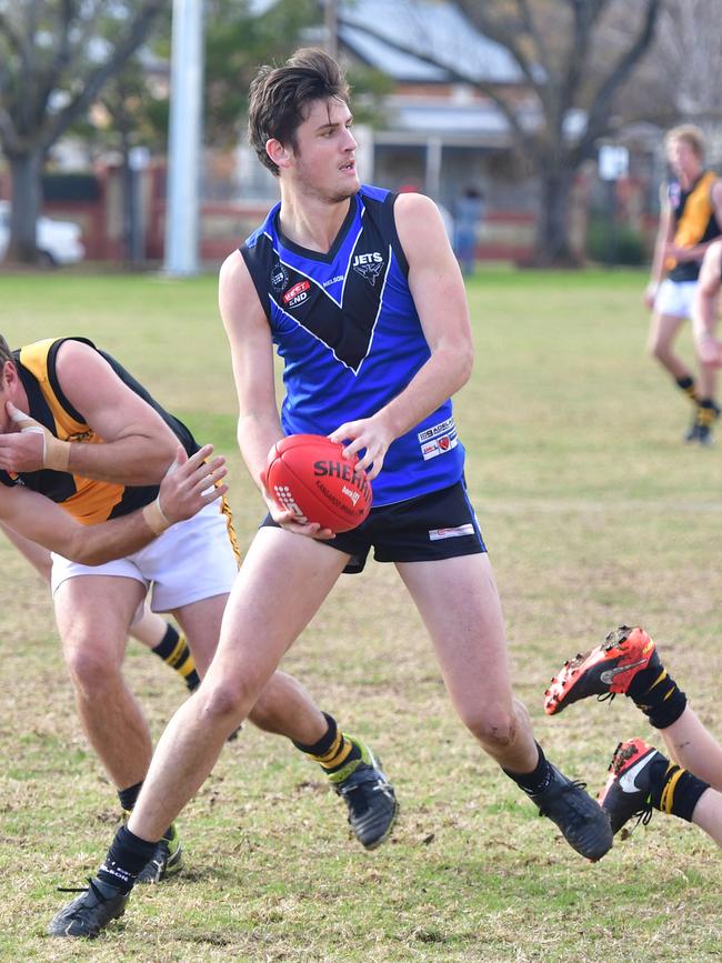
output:
M 364 472 L 354 473 L 357 461 L 343 458 L 343 445 L 322 434 L 290 434 L 269 452 L 265 486 L 299 521 L 348 532 L 371 509 L 371 482 Z

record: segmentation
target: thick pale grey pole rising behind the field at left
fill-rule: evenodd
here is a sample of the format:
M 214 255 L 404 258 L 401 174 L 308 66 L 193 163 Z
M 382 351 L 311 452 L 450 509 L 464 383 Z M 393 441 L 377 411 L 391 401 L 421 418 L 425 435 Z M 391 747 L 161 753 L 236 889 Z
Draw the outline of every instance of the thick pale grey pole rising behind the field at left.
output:
M 173 0 L 166 199 L 167 274 L 198 273 L 203 0 Z

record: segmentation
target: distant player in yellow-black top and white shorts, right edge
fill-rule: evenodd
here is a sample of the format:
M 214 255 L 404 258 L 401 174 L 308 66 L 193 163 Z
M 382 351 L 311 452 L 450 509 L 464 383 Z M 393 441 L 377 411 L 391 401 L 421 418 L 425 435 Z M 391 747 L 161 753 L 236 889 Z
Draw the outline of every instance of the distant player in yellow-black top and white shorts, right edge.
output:
M 652 309 L 649 351 L 694 404 L 686 441 L 709 444 L 719 417 L 716 369 L 700 362 L 699 381 L 674 351 L 683 321 L 692 317 L 700 263 L 722 225 L 722 181 L 704 169 L 704 136 L 691 124 L 664 139 L 670 178 L 661 188 L 660 223 L 644 300 Z

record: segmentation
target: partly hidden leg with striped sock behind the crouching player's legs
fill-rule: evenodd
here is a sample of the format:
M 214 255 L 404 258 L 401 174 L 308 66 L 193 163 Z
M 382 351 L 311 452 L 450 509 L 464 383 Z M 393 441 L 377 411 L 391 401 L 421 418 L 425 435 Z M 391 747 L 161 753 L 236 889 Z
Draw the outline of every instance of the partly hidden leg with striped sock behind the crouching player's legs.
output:
M 41 579 L 50 585 L 50 572 L 52 570 L 50 552 L 42 545 L 23 539 L 22 535 L 13 532 L 2 522 L 0 522 L 0 531 L 4 532 L 8 541 L 12 542 Z M 201 680 L 195 671 L 195 663 L 184 635 L 180 634 L 170 622 L 167 622 L 156 612 L 151 612 L 147 603 L 143 605 L 143 613 L 140 619 L 131 625 L 129 635 L 154 655 L 158 655 L 170 669 L 173 669 L 181 676 L 189 692 L 198 689 Z

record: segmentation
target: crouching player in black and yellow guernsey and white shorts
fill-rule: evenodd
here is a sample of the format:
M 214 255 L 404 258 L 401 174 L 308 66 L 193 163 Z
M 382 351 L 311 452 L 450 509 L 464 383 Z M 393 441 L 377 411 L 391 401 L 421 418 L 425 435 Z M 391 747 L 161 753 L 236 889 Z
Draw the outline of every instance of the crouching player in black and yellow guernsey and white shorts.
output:
M 179 444 L 189 454 L 198 449 L 185 425 L 87 339 L 48 339 L 10 352 L 0 338 L 0 518 L 11 526 L 1 509 L 13 488 L 33 490 L 91 525 L 152 505 Z M 126 811 L 151 755 L 147 723 L 121 672 L 128 630 L 150 590 L 152 609 L 173 614 L 202 674 L 239 563 L 227 506 L 210 504 L 168 530 L 162 512 L 160 521 L 157 540 L 133 555 L 94 566 L 59 555 L 52 562 L 56 619 L 80 719 Z M 180 663 L 183 651 L 172 648 L 166 654 Z M 270 680 L 251 721 L 318 758 L 341 794 L 334 776 L 342 765 L 341 783 L 374 769 L 364 748 L 339 734 L 284 673 Z M 351 811 L 357 798 L 345 801 Z M 372 837 L 355 826 L 363 845 L 381 842 L 394 816 L 395 804 Z M 171 826 L 140 879 L 156 881 L 180 864 Z

